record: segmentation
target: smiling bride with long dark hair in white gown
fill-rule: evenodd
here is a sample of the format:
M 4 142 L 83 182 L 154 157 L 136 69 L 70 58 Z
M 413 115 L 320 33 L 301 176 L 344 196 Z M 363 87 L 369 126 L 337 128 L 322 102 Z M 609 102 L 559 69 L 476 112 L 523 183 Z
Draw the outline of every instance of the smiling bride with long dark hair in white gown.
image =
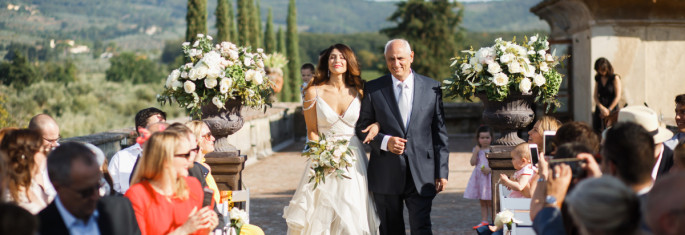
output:
M 349 139 L 356 161 L 347 169 L 350 179 L 326 176 L 314 188 L 309 182 L 309 163 L 295 195 L 283 213 L 288 234 L 377 234 L 380 221 L 366 182 L 368 159 L 364 146 L 355 136 L 362 98 L 362 80 L 354 52 L 347 45 L 335 44 L 319 59 L 314 80 L 305 89 L 304 118 L 309 140 L 319 134 L 327 139 Z M 367 142 L 378 133 L 374 123 Z

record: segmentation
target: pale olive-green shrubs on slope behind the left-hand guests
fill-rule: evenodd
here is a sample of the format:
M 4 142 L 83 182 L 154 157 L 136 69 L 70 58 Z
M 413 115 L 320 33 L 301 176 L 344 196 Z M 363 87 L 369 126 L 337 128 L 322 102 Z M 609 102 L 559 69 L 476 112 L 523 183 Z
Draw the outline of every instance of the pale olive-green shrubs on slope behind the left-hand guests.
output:
M 38 113 L 55 117 L 63 137 L 133 127 L 138 110 L 157 105 L 155 94 L 159 91 L 161 83 L 133 85 L 108 82 L 102 76 L 68 85 L 41 81 L 23 91 L 0 85 L 0 127 L 26 126 Z M 12 115 L 3 115 L 3 109 Z M 169 119 L 183 115 L 179 108 L 166 107 L 164 111 Z

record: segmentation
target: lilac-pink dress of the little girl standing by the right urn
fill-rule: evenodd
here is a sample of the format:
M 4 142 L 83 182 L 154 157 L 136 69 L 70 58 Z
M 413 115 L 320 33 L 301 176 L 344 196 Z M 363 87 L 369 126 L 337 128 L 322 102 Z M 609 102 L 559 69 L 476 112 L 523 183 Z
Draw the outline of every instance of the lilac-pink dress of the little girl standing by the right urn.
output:
M 483 166 L 489 167 L 488 159 L 485 157 L 485 154 L 489 152 L 490 149 L 483 149 L 478 152 L 476 168 L 473 168 L 473 172 L 471 172 L 471 178 L 464 191 L 464 198 L 492 200 L 491 174 L 483 174 L 480 170 Z

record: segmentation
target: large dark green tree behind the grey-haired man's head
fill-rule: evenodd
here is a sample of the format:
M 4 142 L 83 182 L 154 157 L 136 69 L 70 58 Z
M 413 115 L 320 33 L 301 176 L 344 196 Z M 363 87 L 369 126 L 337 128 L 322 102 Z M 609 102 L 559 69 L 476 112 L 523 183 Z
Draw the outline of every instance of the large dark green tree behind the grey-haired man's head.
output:
M 456 10 L 459 9 L 459 10 Z M 457 52 L 457 33 L 463 8 L 448 0 L 409 0 L 397 4 L 388 20 L 397 25 L 381 32 L 389 38 L 404 38 L 414 51 L 412 69 L 437 80 L 450 76 L 445 61 Z

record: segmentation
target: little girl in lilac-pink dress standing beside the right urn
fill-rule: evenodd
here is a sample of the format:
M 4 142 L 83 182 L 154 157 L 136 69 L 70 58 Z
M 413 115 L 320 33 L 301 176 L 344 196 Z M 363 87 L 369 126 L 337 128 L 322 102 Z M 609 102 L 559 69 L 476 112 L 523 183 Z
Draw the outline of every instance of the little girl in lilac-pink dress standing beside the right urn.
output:
M 480 200 L 480 224 L 473 227 L 488 225 L 488 213 L 492 211 L 492 194 L 490 187 L 490 167 L 485 154 L 490 152 L 492 130 L 488 126 L 480 126 L 476 131 L 476 146 L 471 154 L 471 166 L 475 166 L 471 178 L 464 191 L 464 198 Z

